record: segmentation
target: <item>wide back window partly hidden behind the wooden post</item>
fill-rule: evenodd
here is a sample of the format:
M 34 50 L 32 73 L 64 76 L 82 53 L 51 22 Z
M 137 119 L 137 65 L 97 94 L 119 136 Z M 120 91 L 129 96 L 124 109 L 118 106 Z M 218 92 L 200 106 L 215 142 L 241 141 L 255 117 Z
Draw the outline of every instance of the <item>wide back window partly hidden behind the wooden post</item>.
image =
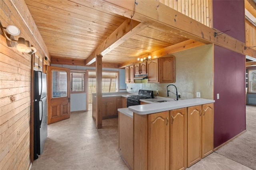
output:
M 96 72 L 88 72 L 88 95 L 89 103 L 92 102 L 92 93 L 96 93 Z M 118 91 L 118 72 L 102 72 L 102 92 L 117 92 Z

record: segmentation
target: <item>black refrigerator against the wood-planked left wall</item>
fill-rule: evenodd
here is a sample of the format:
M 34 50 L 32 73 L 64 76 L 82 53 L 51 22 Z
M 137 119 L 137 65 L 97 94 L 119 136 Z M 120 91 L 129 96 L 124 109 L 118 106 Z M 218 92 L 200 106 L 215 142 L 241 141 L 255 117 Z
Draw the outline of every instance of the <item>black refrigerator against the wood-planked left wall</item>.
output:
M 47 137 L 46 74 L 34 71 L 34 159 L 42 153 Z

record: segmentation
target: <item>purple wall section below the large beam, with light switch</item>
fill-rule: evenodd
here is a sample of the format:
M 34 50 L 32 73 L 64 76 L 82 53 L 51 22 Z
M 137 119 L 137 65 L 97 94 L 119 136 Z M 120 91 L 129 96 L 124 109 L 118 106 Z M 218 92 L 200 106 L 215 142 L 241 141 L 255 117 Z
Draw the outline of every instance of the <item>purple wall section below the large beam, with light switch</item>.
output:
M 245 56 L 217 45 L 214 45 L 214 100 L 215 148 L 246 129 Z

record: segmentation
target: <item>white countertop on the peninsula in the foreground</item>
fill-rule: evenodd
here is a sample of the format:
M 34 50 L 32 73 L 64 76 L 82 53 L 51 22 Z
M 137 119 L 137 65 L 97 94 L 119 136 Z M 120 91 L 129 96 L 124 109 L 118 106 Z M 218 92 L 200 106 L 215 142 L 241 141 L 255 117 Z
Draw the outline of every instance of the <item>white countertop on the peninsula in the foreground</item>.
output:
M 139 115 L 146 115 L 150 113 L 157 113 L 161 111 L 180 109 L 183 107 L 197 106 L 201 104 L 208 104 L 208 103 L 214 103 L 214 102 L 215 100 L 194 98 L 194 99 L 186 99 L 186 100 L 178 100 L 178 101 L 172 100 L 170 102 L 162 102 L 162 103 L 143 104 L 143 105 L 137 105 L 137 106 L 130 106 L 128 108 L 130 111 L 137 113 Z

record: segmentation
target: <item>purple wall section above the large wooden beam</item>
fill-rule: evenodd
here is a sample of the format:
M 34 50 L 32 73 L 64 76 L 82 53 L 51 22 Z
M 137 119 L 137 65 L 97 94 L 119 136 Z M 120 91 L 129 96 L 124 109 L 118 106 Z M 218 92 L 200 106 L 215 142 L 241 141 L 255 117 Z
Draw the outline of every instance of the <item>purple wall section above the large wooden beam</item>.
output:
M 213 0 L 213 27 L 245 43 L 244 0 Z

